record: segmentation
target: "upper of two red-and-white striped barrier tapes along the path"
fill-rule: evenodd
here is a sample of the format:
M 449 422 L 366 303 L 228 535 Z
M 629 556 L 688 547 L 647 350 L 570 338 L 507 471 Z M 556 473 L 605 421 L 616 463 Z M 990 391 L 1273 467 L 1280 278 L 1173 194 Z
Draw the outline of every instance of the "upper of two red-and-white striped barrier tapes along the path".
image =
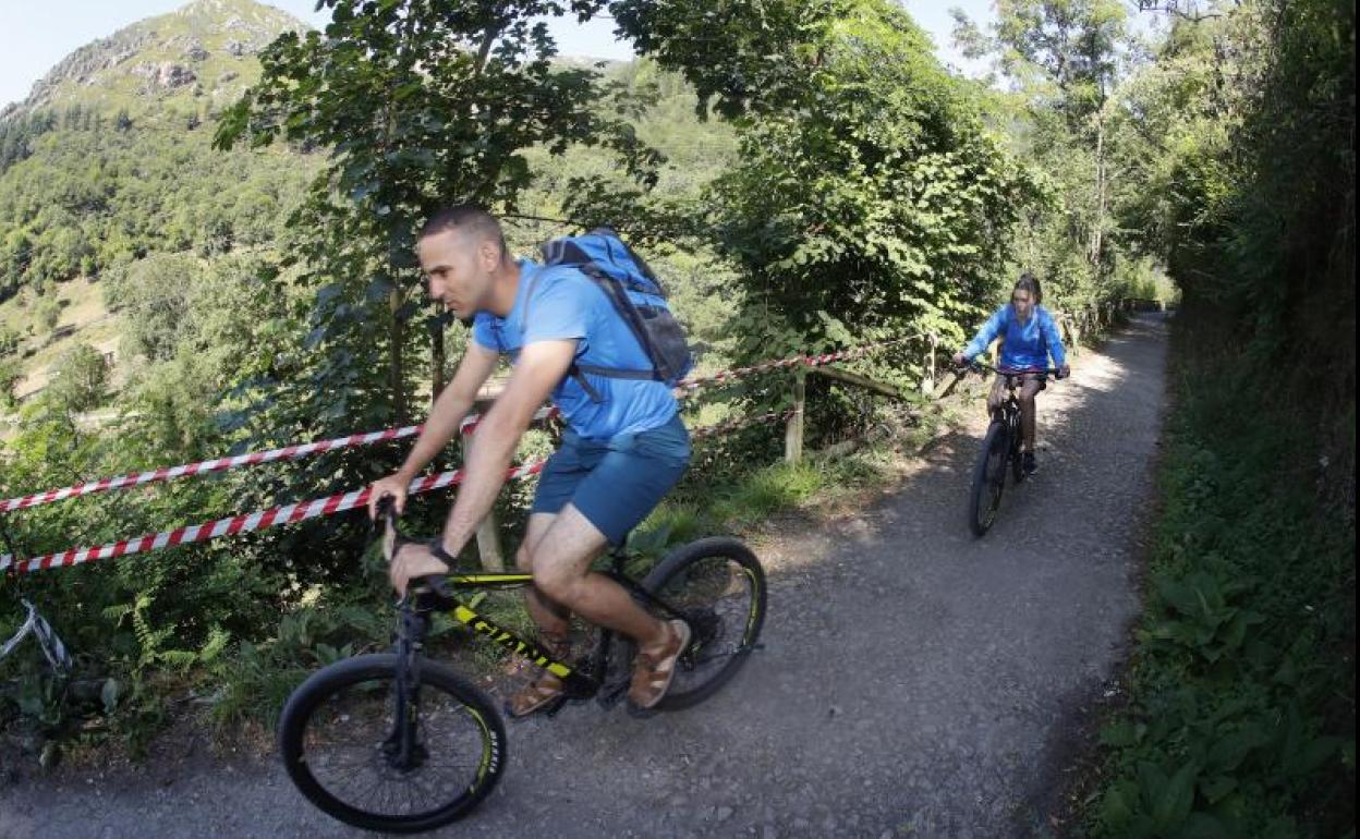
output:
M 676 385 L 676 388 L 681 390 L 694 392 L 706 385 L 729 382 L 747 375 L 753 375 L 756 373 L 766 373 L 770 370 L 779 370 L 783 367 L 800 367 L 800 366 L 820 367 L 823 364 L 830 364 L 832 362 L 860 358 L 876 349 L 883 349 L 885 347 L 891 347 L 892 344 L 900 344 L 903 341 L 910 341 L 919 337 L 923 337 L 923 335 L 898 337 L 888 341 L 880 341 L 877 344 L 866 344 L 864 347 L 855 347 L 854 349 L 842 349 L 839 352 L 826 352 L 820 355 L 796 355 L 786 359 L 753 364 L 751 367 L 737 367 L 734 370 L 724 370 L 722 373 L 715 373 L 713 375 L 688 378 Z M 552 416 L 558 416 L 558 413 L 559 411 L 556 407 L 540 408 L 539 412 L 533 415 L 533 419 L 543 420 Z M 473 415 L 465 417 L 462 423 L 458 424 L 458 431 L 462 434 L 472 434 L 476 430 L 477 424 L 481 422 L 481 419 L 483 415 Z M 405 426 L 401 428 L 370 431 L 367 434 L 351 434 L 350 436 L 340 436 L 336 439 L 320 441 L 314 443 L 301 443 L 301 445 L 284 446 L 282 449 L 271 449 L 268 451 L 253 451 L 249 454 L 237 454 L 234 457 L 219 457 L 214 460 L 200 461 L 197 464 L 186 464 L 182 466 L 162 466 L 159 469 L 151 469 L 148 472 L 137 472 L 133 475 L 124 475 L 120 477 L 106 477 L 95 481 L 87 481 L 84 484 L 61 487 L 60 490 L 48 490 L 45 492 L 35 492 L 33 495 L 23 495 L 19 498 L 0 500 L 0 513 L 23 510 L 26 507 L 37 507 L 38 504 L 48 504 L 52 502 L 63 500 L 67 498 L 76 498 L 80 495 L 91 495 L 94 492 L 106 492 L 112 490 L 125 490 L 128 487 L 140 487 L 144 484 L 174 480 L 177 477 L 186 477 L 190 475 L 203 475 L 207 472 L 224 472 L 227 469 L 235 469 L 238 466 L 253 466 L 256 464 L 268 464 L 280 460 L 299 460 L 303 457 L 309 457 L 311 454 L 320 454 L 322 451 L 330 451 L 335 449 L 370 446 L 373 443 L 379 443 L 390 439 L 413 436 L 416 434 L 420 434 L 422 428 L 424 428 L 424 426 Z

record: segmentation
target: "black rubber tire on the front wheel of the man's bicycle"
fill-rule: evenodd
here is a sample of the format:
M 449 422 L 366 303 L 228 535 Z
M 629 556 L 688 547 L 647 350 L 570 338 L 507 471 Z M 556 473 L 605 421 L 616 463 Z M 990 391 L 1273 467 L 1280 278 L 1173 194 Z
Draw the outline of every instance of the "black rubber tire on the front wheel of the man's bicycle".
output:
M 392 815 L 364 809 L 363 806 L 340 798 L 317 778 L 313 763 L 320 761 L 316 759 L 309 760 L 306 749 L 309 725 L 313 723 L 317 713 L 326 704 L 328 699 L 336 698 L 350 688 L 355 688 L 370 681 L 378 685 L 382 685 L 384 683 L 390 684 L 394 681 L 396 673 L 397 655 L 393 653 L 355 655 L 354 658 L 335 662 L 313 673 L 305 683 L 302 683 L 302 685 L 298 687 L 298 689 L 292 692 L 291 696 L 288 696 L 288 702 L 283 708 L 283 715 L 279 721 L 279 753 L 283 757 L 283 764 L 288 772 L 288 778 L 298 787 L 298 791 L 301 791 L 309 801 L 311 801 L 311 804 L 326 815 L 339 819 L 345 824 L 370 831 L 390 834 L 430 831 L 461 819 L 477 804 L 480 804 L 500 779 L 500 774 L 503 772 L 506 763 L 506 733 L 499 711 L 486 694 L 464 680 L 450 668 L 427 658 L 420 660 L 420 704 L 424 710 L 424 717 L 422 718 L 422 726 L 424 726 L 430 717 L 438 713 L 430 710 L 431 703 L 428 702 L 428 691 L 435 689 L 442 692 L 442 695 L 452 698 L 453 703 L 456 703 L 460 710 L 468 713 L 468 717 L 473 723 L 471 730 L 477 733 L 481 741 L 481 753 L 476 756 L 477 766 L 471 783 L 465 787 L 452 789 L 450 791 L 456 793 L 454 798 L 437 802 L 432 809 L 424 809 L 409 815 Z M 340 714 L 337 718 L 348 725 L 348 722 L 354 718 L 375 717 L 375 714 L 363 714 L 362 711 L 378 711 L 377 715 L 381 715 L 381 708 L 390 708 L 392 703 L 390 698 L 378 699 L 377 704 L 373 704 L 374 699 L 371 698 L 367 702 L 370 703 L 369 706 L 363 708 L 351 706 L 350 714 Z M 360 719 L 355 726 L 358 736 L 362 738 L 364 733 L 370 736 L 381 733 L 385 725 L 386 727 L 390 727 L 390 710 L 388 710 L 386 714 L 388 722 L 385 723 L 382 719 L 377 719 L 375 727 L 370 732 L 362 732 L 363 719 Z M 435 745 L 432 738 L 428 736 L 426 745 Z M 452 747 L 450 742 L 439 742 L 438 745 L 442 748 Z M 394 771 L 403 775 L 411 774 L 411 770 L 403 771 L 392 767 L 390 761 L 388 761 L 384 755 L 379 755 L 382 748 L 381 744 L 377 744 L 373 748 L 364 748 L 363 741 L 359 740 L 356 747 L 350 748 L 360 749 L 360 755 L 367 752 L 367 757 L 364 760 L 371 763 L 375 768 L 382 770 L 384 767 L 381 764 L 388 763 L 385 767 L 388 771 Z M 434 752 L 430 752 L 430 756 L 434 755 Z M 423 768 L 424 764 L 426 761 L 422 761 L 422 766 L 418 767 L 416 771 Z M 434 764 L 431 763 L 430 766 Z M 408 779 L 403 778 L 403 782 L 405 783 Z M 413 781 L 411 781 L 411 783 L 413 783 Z M 423 793 L 426 790 L 420 789 L 420 791 Z

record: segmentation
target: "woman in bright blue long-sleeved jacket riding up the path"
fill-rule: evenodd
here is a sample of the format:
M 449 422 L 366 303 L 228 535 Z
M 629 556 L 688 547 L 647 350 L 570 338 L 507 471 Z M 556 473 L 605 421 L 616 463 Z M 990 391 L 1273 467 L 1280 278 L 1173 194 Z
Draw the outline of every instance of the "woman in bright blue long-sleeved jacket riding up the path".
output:
M 953 356 L 953 363 L 960 367 L 970 363 L 997 337 L 1001 339 L 1001 367 L 1006 370 L 1034 370 L 1020 375 L 1020 447 L 1024 451 L 1025 475 L 1034 475 L 1038 465 L 1034 460 L 1034 431 L 1035 407 L 1034 397 L 1043 390 L 1042 371 L 1053 358 L 1053 366 L 1058 369 L 1058 377 L 1068 377 L 1072 370 L 1068 367 L 1066 355 L 1062 349 L 1062 336 L 1058 335 L 1058 324 L 1040 306 L 1043 291 L 1039 280 L 1025 272 L 1016 280 L 1010 291 L 1010 302 L 997 309 L 987 318 L 978 335 L 968 341 L 968 345 Z M 1006 398 L 1006 377 L 997 375 L 991 385 L 991 394 L 987 396 L 987 409 L 993 411 Z

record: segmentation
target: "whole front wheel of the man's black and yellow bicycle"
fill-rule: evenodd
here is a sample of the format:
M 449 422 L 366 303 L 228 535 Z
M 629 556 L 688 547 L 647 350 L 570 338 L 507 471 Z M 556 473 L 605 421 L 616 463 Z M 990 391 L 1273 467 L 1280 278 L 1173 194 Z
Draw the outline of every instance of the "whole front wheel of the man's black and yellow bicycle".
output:
M 313 673 L 284 706 L 279 752 L 298 790 L 340 821 L 392 834 L 430 831 L 462 817 L 495 787 L 506 760 L 505 725 L 486 694 L 443 665 L 420 660 L 405 714 L 397 710 L 396 680 L 392 653 Z

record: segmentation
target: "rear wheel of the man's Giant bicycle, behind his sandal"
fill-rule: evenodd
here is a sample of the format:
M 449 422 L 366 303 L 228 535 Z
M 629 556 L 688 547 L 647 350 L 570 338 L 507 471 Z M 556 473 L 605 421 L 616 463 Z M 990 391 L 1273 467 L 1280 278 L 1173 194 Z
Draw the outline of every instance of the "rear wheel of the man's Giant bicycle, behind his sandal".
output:
M 700 538 L 672 551 L 642 587 L 684 613 L 694 632 L 657 710 L 679 711 L 713 696 L 749 658 L 764 626 L 767 589 L 760 560 L 736 538 Z

